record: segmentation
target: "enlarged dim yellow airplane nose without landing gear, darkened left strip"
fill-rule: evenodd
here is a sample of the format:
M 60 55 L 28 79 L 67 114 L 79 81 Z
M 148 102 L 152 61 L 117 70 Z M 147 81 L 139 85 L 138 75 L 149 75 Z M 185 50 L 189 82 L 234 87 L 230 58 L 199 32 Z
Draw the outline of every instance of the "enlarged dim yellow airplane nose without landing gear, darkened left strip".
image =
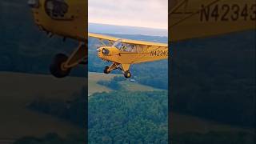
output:
M 85 42 L 87 34 L 86 1 L 29 0 L 34 22 L 49 35 L 56 34 Z

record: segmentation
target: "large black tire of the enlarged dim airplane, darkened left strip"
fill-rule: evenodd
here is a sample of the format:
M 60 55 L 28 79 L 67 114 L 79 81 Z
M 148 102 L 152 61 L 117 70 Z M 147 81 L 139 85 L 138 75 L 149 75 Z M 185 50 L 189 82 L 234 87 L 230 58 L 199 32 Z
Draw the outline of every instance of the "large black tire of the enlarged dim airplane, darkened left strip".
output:
M 65 54 L 56 54 L 52 63 L 50 64 L 50 74 L 56 78 L 64 78 L 70 74 L 71 68 L 67 70 L 62 69 L 62 63 L 66 62 L 68 57 Z

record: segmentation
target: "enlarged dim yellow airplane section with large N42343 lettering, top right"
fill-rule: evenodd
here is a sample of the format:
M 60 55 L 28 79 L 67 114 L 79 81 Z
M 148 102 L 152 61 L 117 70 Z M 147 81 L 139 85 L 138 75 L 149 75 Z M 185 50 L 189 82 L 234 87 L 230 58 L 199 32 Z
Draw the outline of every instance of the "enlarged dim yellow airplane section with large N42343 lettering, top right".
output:
M 169 7 L 171 42 L 254 30 L 256 26 L 255 0 L 172 0 Z

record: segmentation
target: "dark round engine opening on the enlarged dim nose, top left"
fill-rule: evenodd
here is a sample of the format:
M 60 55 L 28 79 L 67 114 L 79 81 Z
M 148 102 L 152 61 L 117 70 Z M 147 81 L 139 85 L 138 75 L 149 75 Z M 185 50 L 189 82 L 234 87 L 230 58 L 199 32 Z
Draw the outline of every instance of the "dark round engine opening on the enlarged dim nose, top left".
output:
M 69 6 L 64 0 L 46 0 L 45 8 L 50 18 L 63 18 Z

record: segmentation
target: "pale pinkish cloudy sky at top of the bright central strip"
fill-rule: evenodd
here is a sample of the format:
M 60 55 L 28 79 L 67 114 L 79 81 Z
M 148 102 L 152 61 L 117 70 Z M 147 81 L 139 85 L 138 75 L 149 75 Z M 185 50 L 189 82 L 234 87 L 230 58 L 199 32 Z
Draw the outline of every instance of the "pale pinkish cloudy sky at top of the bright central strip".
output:
M 88 21 L 168 29 L 168 0 L 89 0 Z

